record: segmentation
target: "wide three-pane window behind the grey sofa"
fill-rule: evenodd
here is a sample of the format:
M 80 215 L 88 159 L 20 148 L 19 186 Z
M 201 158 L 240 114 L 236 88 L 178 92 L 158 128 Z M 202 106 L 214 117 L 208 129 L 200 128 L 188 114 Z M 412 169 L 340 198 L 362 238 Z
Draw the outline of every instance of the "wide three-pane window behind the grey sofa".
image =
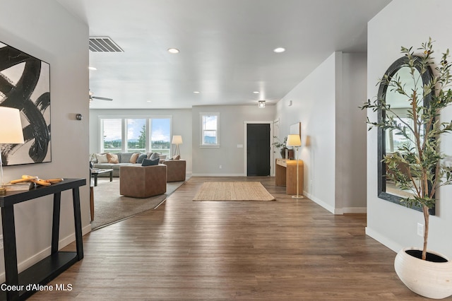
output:
M 171 117 L 100 117 L 100 152 L 171 153 Z

